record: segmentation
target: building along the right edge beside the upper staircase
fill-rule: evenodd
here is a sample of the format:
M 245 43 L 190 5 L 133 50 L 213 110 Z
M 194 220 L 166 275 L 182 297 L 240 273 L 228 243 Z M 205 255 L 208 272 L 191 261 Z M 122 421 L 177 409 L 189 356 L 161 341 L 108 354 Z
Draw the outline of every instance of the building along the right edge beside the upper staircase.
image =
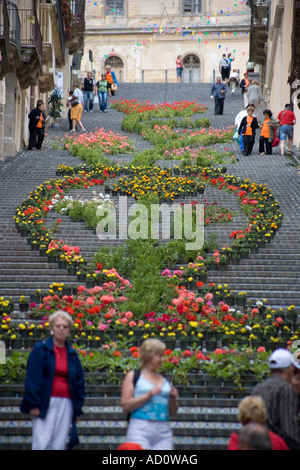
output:
M 300 145 L 300 0 L 248 0 L 249 58 L 255 63 L 265 100 L 275 116 L 293 103 Z M 299 90 L 299 92 L 297 92 Z

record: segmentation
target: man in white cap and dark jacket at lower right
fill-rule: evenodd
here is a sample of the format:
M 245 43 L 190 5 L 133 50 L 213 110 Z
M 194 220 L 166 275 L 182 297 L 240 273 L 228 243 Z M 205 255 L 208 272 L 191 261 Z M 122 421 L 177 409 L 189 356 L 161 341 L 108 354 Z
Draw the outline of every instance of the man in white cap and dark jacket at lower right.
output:
M 269 357 L 271 375 L 258 384 L 252 395 L 259 395 L 267 408 L 267 428 L 279 434 L 290 450 L 300 450 L 298 397 L 291 385 L 294 374 L 293 355 L 276 349 Z

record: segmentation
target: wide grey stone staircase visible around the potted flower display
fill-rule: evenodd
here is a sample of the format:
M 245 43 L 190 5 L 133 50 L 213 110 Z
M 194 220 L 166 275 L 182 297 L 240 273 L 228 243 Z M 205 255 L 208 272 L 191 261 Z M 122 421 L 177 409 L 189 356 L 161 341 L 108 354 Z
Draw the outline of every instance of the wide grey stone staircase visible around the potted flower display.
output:
M 123 85 L 125 87 L 125 85 Z M 123 88 L 123 87 L 122 87 Z M 175 101 L 180 99 L 199 99 L 199 85 L 182 87 L 130 87 L 124 88 L 128 99 L 130 96 L 155 101 L 155 93 L 160 93 L 159 102 L 164 99 Z M 136 92 L 137 90 L 137 92 Z M 203 102 L 207 101 L 209 87 L 203 87 Z M 138 93 L 138 94 L 136 94 Z M 139 95 L 140 93 L 140 95 Z M 207 93 L 207 95 L 205 94 Z M 201 99 L 201 98 L 200 98 Z M 241 97 L 235 96 L 228 113 L 224 116 L 222 124 L 230 125 L 242 107 Z M 214 127 L 220 127 L 218 117 L 208 111 Z M 121 131 L 123 116 L 114 110 L 109 110 L 106 121 L 99 124 L 98 113 L 91 117 L 84 116 L 85 127 L 90 123 L 115 132 Z M 50 137 L 54 133 L 63 137 L 65 129 L 60 131 L 49 130 Z M 52 133 L 52 134 L 51 134 Z M 132 136 L 131 136 L 132 137 Z M 138 137 L 139 145 L 143 142 Z M 146 142 L 145 147 L 148 146 Z M 237 147 L 227 145 L 230 150 L 238 152 Z M 147 147 L 148 148 L 148 147 Z M 122 157 L 116 157 L 122 160 Z M 130 157 L 124 157 L 128 160 Z M 294 167 L 279 155 L 263 159 L 257 153 L 251 157 L 239 157 L 235 165 L 228 166 L 228 172 L 235 176 L 247 177 L 251 181 L 267 183 L 274 188 L 274 196 L 278 200 L 284 214 L 280 230 L 275 238 L 258 254 L 250 254 L 248 259 L 241 260 L 238 265 L 229 265 L 225 271 L 209 271 L 208 282 L 227 284 L 228 289 L 246 291 L 251 301 L 266 299 L 266 304 L 273 307 L 288 307 L 293 304 L 299 309 L 299 176 Z M 6 162 L 0 162 L 0 296 L 12 296 L 15 302 L 13 318 L 26 318 L 26 314 L 19 312 L 18 299 L 20 295 L 29 295 L 37 289 L 48 290 L 52 282 L 64 282 L 68 286 L 78 285 L 75 276 L 69 276 L 66 270 L 60 270 L 57 264 L 50 264 L 46 257 L 39 252 L 32 251 L 26 238 L 16 230 L 13 217 L 16 207 L 26 199 L 31 191 L 39 184 L 55 178 L 59 164 L 77 165 L 78 160 L 66 151 L 46 148 L 41 152 L 20 152 Z M 169 166 L 178 162 L 161 162 Z M 100 186 L 93 188 L 99 192 Z M 73 191 L 76 195 L 78 191 Z M 72 194 L 72 192 L 70 193 Z M 202 197 L 210 202 L 219 201 L 219 205 L 226 205 L 237 210 L 238 216 L 234 224 L 208 227 L 205 237 L 216 234 L 219 243 L 228 242 L 232 230 L 243 228 L 245 218 L 236 205 L 235 199 L 224 191 L 207 188 Z M 84 256 L 91 256 L 104 243 L 100 242 L 96 234 L 87 230 L 83 223 L 75 223 L 69 218 L 49 214 L 48 223 L 55 218 L 62 219 L 58 235 L 69 244 L 78 245 Z M 118 244 L 116 240 L 113 244 Z M 1 366 L 0 366 L 1 367 Z M 180 389 L 179 414 L 172 421 L 175 436 L 175 449 L 178 450 L 223 450 L 226 449 L 228 437 L 235 431 L 237 422 L 237 405 L 250 388 L 242 391 L 230 388 L 226 383 L 212 385 L 208 378 L 201 383 L 182 386 Z M 31 422 L 29 417 L 19 412 L 20 400 L 24 384 L 0 384 L 0 449 L 20 450 L 29 449 L 31 443 Z M 188 394 L 188 395 L 187 395 Z M 115 449 L 122 442 L 126 430 L 126 416 L 120 408 L 120 386 L 112 386 L 105 378 L 97 385 L 87 384 L 87 398 L 84 407 L 84 416 L 79 423 L 81 444 L 79 449 L 110 450 Z

